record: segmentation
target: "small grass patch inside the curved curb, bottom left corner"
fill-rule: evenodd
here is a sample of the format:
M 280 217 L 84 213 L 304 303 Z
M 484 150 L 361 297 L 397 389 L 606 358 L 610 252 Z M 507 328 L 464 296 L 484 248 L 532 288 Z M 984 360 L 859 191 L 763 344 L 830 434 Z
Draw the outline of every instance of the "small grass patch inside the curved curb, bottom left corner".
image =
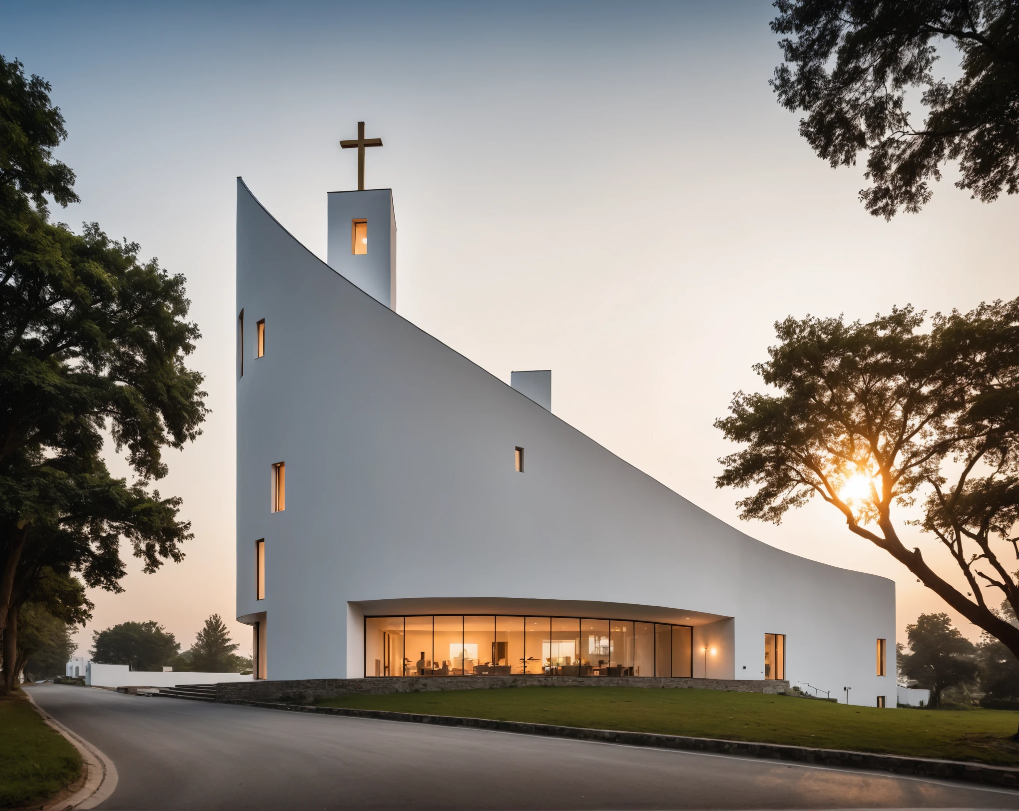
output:
M 77 750 L 22 694 L 0 697 L 0 807 L 56 794 L 81 771 Z

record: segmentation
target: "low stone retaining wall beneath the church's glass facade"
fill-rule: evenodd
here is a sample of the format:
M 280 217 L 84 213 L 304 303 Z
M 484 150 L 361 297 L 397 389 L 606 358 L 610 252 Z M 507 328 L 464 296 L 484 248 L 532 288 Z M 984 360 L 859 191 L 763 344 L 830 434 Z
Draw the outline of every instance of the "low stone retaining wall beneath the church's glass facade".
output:
M 432 675 L 374 679 L 306 679 L 220 683 L 216 701 L 280 701 L 304 704 L 338 696 L 426 693 L 444 690 L 495 690 L 506 687 L 643 687 L 786 693 L 789 682 L 750 679 L 657 679 L 651 677 Z

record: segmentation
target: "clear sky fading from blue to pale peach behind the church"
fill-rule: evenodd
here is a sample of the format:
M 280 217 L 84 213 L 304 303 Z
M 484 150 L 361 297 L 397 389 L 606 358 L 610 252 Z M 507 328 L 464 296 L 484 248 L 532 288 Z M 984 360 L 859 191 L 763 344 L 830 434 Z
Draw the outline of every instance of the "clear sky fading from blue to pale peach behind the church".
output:
M 0 53 L 51 82 L 67 119 L 58 154 L 83 202 L 55 217 L 184 273 L 204 333 L 193 363 L 213 414 L 159 484 L 196 538 L 182 563 L 132 562 L 123 594 L 93 593 L 79 640 L 156 619 L 186 648 L 216 611 L 250 649 L 232 621 L 234 177 L 324 259 L 326 192 L 357 183 L 337 141 L 359 120 L 385 143 L 367 186 L 393 190 L 401 315 L 503 380 L 552 369 L 559 417 L 743 531 L 894 578 L 900 639 L 946 609 L 833 508 L 745 524 L 739 494 L 714 488 L 732 447 L 712 422 L 757 387 L 775 320 L 1019 294 L 1019 200 L 972 201 L 950 169 L 921 214 L 869 216 L 862 171 L 817 159 L 774 101 L 772 16 L 765 2 L 0 2 Z

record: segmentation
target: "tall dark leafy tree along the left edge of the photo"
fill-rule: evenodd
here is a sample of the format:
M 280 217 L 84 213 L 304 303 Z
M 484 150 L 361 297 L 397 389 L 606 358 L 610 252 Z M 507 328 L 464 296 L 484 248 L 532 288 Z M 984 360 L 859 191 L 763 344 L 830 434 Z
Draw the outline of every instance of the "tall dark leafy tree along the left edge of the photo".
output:
M 0 57 L 0 694 L 44 573 L 119 591 L 121 538 L 146 572 L 181 559 L 180 499 L 150 484 L 166 475 L 163 448 L 195 439 L 207 414 L 184 366 L 200 333 L 183 276 L 95 223 L 75 234 L 48 219 L 48 197 L 77 200 L 52 158 L 66 131 L 49 91 Z M 107 434 L 136 481 L 109 474 Z

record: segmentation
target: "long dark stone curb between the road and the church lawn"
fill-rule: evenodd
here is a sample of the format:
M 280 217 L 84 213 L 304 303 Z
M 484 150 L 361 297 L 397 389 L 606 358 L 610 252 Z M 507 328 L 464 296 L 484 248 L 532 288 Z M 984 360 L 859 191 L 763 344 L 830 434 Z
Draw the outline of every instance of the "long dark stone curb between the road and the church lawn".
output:
M 248 707 L 307 712 L 315 715 L 342 715 L 351 718 L 431 723 L 439 726 L 467 726 L 500 733 L 537 735 L 544 738 L 569 738 L 575 741 L 596 741 L 626 746 L 643 746 L 656 749 L 680 749 L 692 752 L 712 752 L 722 755 L 742 755 L 770 760 L 789 760 L 821 766 L 888 771 L 918 777 L 978 782 L 1005 788 L 1019 787 L 1019 768 L 991 766 L 985 763 L 968 763 L 959 760 L 880 755 L 873 752 L 853 752 L 845 749 L 812 749 L 786 744 L 757 744 L 746 741 L 727 741 L 716 738 L 689 738 L 681 735 L 656 733 L 627 733 L 618 729 L 590 729 L 582 726 L 559 726 L 551 723 L 525 723 L 500 721 L 491 718 L 465 718 L 453 715 L 424 715 L 416 712 L 389 712 L 347 707 L 315 707 L 304 704 L 277 704 L 267 701 L 233 699 L 220 704 L 238 704 Z

